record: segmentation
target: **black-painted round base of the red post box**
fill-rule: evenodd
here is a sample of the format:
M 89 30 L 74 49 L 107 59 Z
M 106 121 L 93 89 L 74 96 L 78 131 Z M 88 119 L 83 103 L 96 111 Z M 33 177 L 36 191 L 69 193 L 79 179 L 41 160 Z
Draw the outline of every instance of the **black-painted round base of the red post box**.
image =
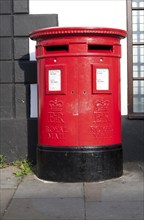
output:
M 122 146 L 37 147 L 37 176 L 57 182 L 95 182 L 120 177 Z

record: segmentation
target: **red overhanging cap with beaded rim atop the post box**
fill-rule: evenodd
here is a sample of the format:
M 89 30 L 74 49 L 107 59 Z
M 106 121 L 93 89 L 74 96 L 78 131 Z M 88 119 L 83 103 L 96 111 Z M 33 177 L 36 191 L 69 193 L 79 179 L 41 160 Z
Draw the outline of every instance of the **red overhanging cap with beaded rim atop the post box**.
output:
M 102 27 L 52 27 L 35 30 L 30 33 L 30 38 L 36 41 L 69 36 L 111 36 L 122 39 L 126 37 L 126 31 Z

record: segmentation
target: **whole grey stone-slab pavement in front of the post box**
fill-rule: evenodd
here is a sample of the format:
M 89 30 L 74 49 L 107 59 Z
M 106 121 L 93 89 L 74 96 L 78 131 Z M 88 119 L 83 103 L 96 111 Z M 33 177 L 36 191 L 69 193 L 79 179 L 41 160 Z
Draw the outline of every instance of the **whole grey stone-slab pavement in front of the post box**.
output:
M 120 178 L 58 183 L 15 167 L 0 170 L 1 220 L 144 220 L 144 164 L 125 163 Z

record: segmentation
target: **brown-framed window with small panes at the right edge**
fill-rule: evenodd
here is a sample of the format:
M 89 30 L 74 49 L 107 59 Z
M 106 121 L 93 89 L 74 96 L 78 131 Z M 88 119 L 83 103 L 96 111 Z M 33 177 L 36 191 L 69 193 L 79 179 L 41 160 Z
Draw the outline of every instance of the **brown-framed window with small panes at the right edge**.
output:
M 127 0 L 128 116 L 144 118 L 144 0 Z

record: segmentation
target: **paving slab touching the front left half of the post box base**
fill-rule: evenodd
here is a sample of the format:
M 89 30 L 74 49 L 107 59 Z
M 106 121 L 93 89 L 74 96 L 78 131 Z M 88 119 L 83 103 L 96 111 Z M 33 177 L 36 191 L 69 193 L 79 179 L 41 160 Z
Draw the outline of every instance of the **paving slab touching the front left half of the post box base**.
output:
M 34 175 L 25 176 L 14 198 L 82 198 L 83 183 L 41 182 Z

